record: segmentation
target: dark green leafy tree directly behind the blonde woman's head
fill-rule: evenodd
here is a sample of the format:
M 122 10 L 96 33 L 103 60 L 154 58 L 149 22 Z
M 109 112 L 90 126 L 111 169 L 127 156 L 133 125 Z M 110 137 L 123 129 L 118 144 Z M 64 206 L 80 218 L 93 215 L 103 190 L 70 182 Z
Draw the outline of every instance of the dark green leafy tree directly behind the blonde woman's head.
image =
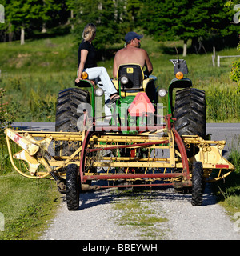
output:
M 101 52 L 102 58 L 106 54 L 106 45 L 121 42 L 122 34 L 126 33 L 126 0 L 78 0 L 75 2 L 76 14 L 74 33 L 78 42 L 82 38 L 82 30 L 87 23 L 97 26 L 94 46 Z

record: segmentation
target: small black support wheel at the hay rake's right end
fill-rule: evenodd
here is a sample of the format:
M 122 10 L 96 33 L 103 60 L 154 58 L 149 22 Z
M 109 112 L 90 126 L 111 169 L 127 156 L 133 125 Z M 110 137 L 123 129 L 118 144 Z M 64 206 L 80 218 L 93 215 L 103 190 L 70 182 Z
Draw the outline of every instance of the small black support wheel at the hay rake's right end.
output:
M 192 173 L 192 205 L 201 206 L 202 205 L 202 194 L 203 194 L 203 169 L 202 162 L 193 163 L 193 173 Z

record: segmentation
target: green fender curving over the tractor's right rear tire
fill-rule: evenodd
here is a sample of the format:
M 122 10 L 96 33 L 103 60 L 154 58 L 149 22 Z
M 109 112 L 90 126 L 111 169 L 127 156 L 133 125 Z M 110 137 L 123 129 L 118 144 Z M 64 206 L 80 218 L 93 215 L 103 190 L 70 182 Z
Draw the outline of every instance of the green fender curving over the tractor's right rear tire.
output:
M 192 81 L 189 78 L 177 79 L 174 78 L 170 82 L 170 86 L 168 87 L 168 113 L 173 114 L 174 106 L 173 106 L 173 91 L 176 88 L 190 88 L 192 87 Z

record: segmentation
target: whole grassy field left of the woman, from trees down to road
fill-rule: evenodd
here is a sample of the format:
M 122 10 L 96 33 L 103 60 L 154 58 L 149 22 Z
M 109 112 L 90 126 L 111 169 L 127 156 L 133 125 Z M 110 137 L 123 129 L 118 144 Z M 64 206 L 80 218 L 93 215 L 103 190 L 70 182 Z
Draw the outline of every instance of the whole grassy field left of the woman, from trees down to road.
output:
M 0 84 L 14 121 L 54 121 L 58 91 L 74 86 L 78 49 L 73 41 L 68 34 L 23 46 L 0 44 Z

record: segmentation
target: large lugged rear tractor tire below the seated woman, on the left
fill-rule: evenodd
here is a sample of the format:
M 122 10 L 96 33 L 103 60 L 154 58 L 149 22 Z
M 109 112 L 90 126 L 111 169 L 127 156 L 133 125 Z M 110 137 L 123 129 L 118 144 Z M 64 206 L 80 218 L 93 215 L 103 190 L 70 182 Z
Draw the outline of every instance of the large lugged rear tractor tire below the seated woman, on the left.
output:
M 80 88 L 60 90 L 56 106 L 55 130 L 62 132 L 78 132 L 78 123 L 83 117 L 83 109 L 90 107 L 90 94 Z M 55 146 L 55 155 L 69 156 L 74 153 L 78 145 L 61 142 Z

